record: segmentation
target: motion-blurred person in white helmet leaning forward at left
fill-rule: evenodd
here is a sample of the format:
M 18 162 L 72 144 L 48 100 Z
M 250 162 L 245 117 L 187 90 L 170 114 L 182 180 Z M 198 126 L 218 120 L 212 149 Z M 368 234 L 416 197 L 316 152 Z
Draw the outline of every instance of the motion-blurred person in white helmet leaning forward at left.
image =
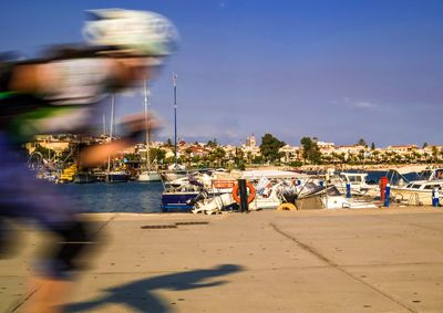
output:
M 58 238 L 55 248 L 37 262 L 37 290 L 30 312 L 59 312 L 70 281 L 84 265 L 82 257 L 96 243 L 89 222 L 66 197 L 27 168 L 23 144 L 35 134 L 86 134 L 111 93 L 150 80 L 176 45 L 177 33 L 164 17 L 144 11 L 90 11 L 83 33 L 87 44 L 62 45 L 35 60 L 0 56 L 0 257 L 11 241 L 7 220 L 32 221 Z M 3 59 L 3 60 L 1 60 Z M 102 164 L 145 132 L 144 115 L 123 119 L 121 139 L 87 146 L 84 167 Z M 158 123 L 151 118 L 148 127 Z

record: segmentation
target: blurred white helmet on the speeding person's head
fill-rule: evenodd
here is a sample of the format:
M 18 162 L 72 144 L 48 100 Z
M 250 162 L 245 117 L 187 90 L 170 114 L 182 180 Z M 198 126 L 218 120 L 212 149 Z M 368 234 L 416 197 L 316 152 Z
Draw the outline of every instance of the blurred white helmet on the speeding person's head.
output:
M 177 48 L 178 32 L 165 17 L 123 9 L 90 10 L 95 20 L 86 21 L 83 36 L 93 45 L 114 46 L 135 54 L 162 56 Z

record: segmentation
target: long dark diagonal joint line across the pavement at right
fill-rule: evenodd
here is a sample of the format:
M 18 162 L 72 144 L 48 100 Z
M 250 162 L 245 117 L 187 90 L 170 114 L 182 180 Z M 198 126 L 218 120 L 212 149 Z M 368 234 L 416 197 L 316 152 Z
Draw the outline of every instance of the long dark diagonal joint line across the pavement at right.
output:
M 406 309 L 409 312 L 413 312 L 413 313 L 418 313 L 419 311 L 416 311 L 413 307 L 410 307 L 409 305 L 406 305 L 405 303 L 403 303 L 402 301 L 395 299 L 393 295 L 390 295 L 389 293 L 382 291 L 381 289 L 372 285 L 371 283 L 353 275 L 352 273 L 348 272 L 344 268 L 340 267 L 339 264 L 337 264 L 336 262 L 333 262 L 332 260 L 328 259 L 327 257 L 322 255 L 317 249 L 315 249 L 313 247 L 310 247 L 301 241 L 299 241 L 298 239 L 291 237 L 290 234 L 286 233 L 285 231 L 280 230 L 275 223 L 270 222 L 270 226 L 272 227 L 272 229 L 280 233 L 281 236 L 286 237 L 287 239 L 293 241 L 295 243 L 297 243 L 297 246 L 299 246 L 301 249 L 310 252 L 311 254 L 313 254 L 315 257 L 317 257 L 318 259 L 320 259 L 321 261 L 326 262 L 328 265 L 339 270 L 340 272 L 342 272 L 343 274 L 348 275 L 349 278 L 367 285 L 368 288 L 372 289 L 373 291 L 380 293 L 381 295 L 383 295 L 384 298 L 391 300 L 392 302 L 399 304 L 400 306 Z

